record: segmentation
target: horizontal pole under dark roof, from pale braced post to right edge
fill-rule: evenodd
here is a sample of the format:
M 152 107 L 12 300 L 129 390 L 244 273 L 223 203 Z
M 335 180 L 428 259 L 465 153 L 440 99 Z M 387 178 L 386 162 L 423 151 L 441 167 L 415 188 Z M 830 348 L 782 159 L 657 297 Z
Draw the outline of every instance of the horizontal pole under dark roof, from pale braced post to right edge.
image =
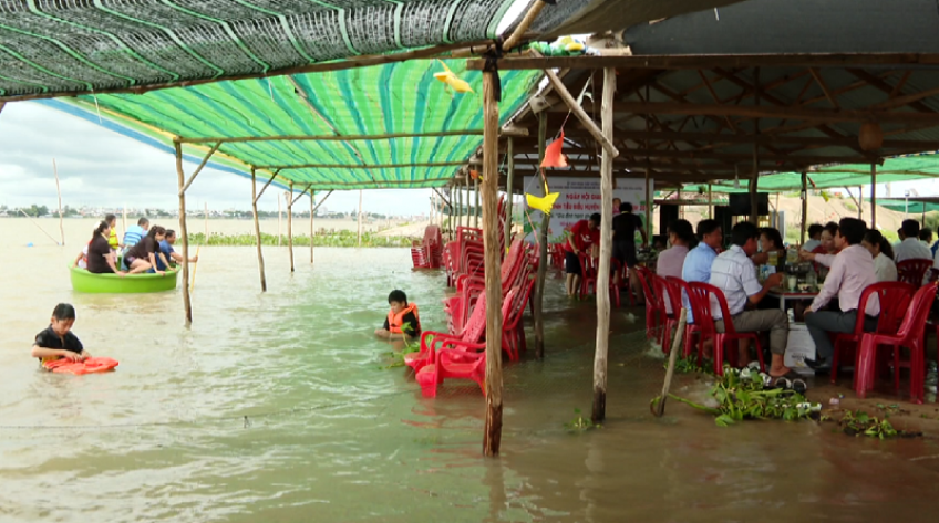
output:
M 740 116 L 744 118 L 802 119 L 811 122 L 896 122 L 935 123 L 935 113 L 892 112 L 879 109 L 822 109 L 783 106 L 679 104 L 672 102 L 618 102 L 622 114 L 678 114 L 692 116 Z

